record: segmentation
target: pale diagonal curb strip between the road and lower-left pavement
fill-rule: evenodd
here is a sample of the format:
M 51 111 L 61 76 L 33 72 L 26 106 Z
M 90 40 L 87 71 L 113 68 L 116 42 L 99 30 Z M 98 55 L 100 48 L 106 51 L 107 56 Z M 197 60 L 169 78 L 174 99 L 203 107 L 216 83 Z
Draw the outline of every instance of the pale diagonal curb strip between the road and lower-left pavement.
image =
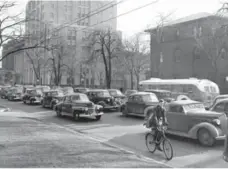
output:
M 163 161 L 157 161 L 157 160 L 155 160 L 155 159 L 153 159 L 153 158 L 146 157 L 146 156 L 144 156 L 144 155 L 142 155 L 142 154 L 140 154 L 140 153 L 135 153 L 135 152 L 133 152 L 133 151 L 127 150 L 126 148 L 122 148 L 122 147 L 120 147 L 119 145 L 116 145 L 116 144 L 113 144 L 113 143 L 103 142 L 103 140 L 100 139 L 100 138 L 94 138 L 94 137 L 89 136 L 89 135 L 87 135 L 87 134 L 79 133 L 79 132 L 77 132 L 77 131 L 75 131 L 75 130 L 72 130 L 72 129 L 67 128 L 67 127 L 65 127 L 65 126 L 58 125 L 58 124 L 56 124 L 56 123 L 51 123 L 51 124 L 52 124 L 52 125 L 55 125 L 56 127 L 65 129 L 65 130 L 67 130 L 67 131 L 69 131 L 69 132 L 71 132 L 71 133 L 80 135 L 80 136 L 82 136 L 82 137 L 89 138 L 89 139 L 91 139 L 91 140 L 94 140 L 94 141 L 99 142 L 99 143 L 103 143 L 104 145 L 111 146 L 111 147 L 113 147 L 113 148 L 117 148 L 117 149 L 119 149 L 120 151 L 124 151 L 124 152 L 127 152 L 127 153 L 129 153 L 129 154 L 134 154 L 134 155 L 136 155 L 137 157 L 139 157 L 141 160 L 143 160 L 143 161 L 145 161 L 145 162 L 153 162 L 153 163 L 157 163 L 157 164 L 164 165 L 164 166 L 169 167 L 169 168 L 176 168 L 176 167 L 173 167 L 173 166 L 171 166 L 171 165 L 169 165 L 169 164 L 167 164 L 167 163 L 164 163 Z

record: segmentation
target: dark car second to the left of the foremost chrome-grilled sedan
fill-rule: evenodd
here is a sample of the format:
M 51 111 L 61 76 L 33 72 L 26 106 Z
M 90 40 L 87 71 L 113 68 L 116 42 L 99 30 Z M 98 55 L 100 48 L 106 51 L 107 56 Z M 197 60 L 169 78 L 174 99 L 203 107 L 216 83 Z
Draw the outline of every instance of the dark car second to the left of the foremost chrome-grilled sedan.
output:
M 42 90 L 40 88 L 28 88 L 22 100 L 25 104 L 41 104 Z

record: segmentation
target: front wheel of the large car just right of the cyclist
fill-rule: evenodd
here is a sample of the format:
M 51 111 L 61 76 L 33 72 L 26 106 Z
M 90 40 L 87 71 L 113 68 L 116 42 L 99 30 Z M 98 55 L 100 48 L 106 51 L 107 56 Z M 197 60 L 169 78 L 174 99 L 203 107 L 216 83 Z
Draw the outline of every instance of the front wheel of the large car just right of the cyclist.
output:
M 215 138 L 206 128 L 200 128 L 197 132 L 197 138 L 201 145 L 212 147 L 215 144 Z

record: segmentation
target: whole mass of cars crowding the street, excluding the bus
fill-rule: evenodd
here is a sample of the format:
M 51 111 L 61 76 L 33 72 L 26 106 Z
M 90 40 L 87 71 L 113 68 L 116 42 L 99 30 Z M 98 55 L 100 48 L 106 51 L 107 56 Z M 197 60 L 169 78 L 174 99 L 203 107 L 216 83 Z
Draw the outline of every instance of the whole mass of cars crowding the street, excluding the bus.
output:
M 151 110 L 164 99 L 169 122 L 167 133 L 198 139 L 202 145 L 212 146 L 225 138 L 227 128 L 228 95 L 217 96 L 213 104 L 205 108 L 201 102 L 189 98 L 177 100 L 170 91 L 87 89 L 47 86 L 2 87 L 0 95 L 10 101 L 21 100 L 24 104 L 40 104 L 56 111 L 58 117 L 93 117 L 100 120 L 107 110 L 121 112 L 123 116 L 149 116 Z

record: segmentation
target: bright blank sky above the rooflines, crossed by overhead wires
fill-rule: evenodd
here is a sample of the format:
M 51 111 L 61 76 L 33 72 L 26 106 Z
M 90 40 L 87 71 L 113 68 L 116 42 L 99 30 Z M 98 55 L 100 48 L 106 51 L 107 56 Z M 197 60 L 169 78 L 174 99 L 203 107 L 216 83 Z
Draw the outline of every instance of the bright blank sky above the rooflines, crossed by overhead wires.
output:
M 119 1 L 119 0 L 118 0 Z M 143 6 L 155 0 L 125 0 L 118 5 L 118 15 Z M 25 7 L 27 0 L 17 0 L 18 10 Z M 178 19 L 187 15 L 209 12 L 213 13 L 221 7 L 221 0 L 158 0 L 157 3 L 118 18 L 118 29 L 125 33 L 142 31 L 148 25 L 155 24 L 158 14 L 173 13 L 170 19 Z

